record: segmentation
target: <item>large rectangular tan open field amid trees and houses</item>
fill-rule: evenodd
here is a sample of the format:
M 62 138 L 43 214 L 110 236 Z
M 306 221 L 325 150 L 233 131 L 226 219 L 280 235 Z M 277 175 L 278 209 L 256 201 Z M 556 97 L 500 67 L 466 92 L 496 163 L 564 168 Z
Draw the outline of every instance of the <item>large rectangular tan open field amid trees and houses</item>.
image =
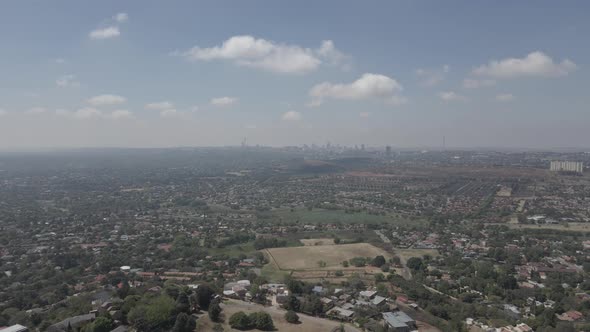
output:
M 368 243 L 353 243 L 327 246 L 304 246 L 293 248 L 267 249 L 270 260 L 281 270 L 310 270 L 319 267 L 318 262 L 325 262 L 325 269 L 342 269 L 342 261 L 354 257 L 375 257 L 390 254 Z

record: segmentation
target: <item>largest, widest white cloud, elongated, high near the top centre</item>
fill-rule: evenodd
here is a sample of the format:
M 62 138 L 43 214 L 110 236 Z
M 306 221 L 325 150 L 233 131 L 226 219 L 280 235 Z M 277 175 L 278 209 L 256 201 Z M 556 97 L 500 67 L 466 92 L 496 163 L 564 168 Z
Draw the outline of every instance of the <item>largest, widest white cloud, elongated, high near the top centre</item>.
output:
M 313 50 L 249 35 L 233 36 L 219 46 L 195 46 L 188 51 L 174 54 L 195 61 L 228 60 L 240 66 L 283 74 L 314 71 L 322 63 L 322 59 L 331 64 L 340 64 L 347 59 L 331 40 L 323 41 L 317 50 Z

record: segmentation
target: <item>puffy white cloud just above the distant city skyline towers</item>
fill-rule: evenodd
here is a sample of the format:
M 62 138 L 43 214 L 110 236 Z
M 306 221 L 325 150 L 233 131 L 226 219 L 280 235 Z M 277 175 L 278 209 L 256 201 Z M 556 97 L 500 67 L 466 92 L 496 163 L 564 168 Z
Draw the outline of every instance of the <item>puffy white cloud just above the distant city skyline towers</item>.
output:
M 362 100 L 379 99 L 388 104 L 398 105 L 406 99 L 398 93 L 403 90 L 401 84 L 385 75 L 365 73 L 350 84 L 324 82 L 309 91 L 312 101 L 310 106 L 318 106 L 325 98 Z

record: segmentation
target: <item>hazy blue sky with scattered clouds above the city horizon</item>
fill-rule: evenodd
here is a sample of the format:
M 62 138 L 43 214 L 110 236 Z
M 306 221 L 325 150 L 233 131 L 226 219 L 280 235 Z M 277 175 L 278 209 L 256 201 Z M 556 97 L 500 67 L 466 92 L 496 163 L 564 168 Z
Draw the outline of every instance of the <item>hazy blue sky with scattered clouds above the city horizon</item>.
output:
M 586 148 L 588 1 L 0 2 L 0 149 Z

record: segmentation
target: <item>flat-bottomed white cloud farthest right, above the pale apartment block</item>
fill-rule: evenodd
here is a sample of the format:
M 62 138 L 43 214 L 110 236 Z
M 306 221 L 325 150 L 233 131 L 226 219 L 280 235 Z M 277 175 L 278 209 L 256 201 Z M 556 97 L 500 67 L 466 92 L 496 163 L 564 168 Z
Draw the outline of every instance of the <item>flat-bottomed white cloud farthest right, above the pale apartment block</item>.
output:
M 507 58 L 493 60 L 473 70 L 476 75 L 494 78 L 517 77 L 557 77 L 564 76 L 576 69 L 576 64 L 569 59 L 556 63 L 543 52 L 532 52 L 524 58 Z

